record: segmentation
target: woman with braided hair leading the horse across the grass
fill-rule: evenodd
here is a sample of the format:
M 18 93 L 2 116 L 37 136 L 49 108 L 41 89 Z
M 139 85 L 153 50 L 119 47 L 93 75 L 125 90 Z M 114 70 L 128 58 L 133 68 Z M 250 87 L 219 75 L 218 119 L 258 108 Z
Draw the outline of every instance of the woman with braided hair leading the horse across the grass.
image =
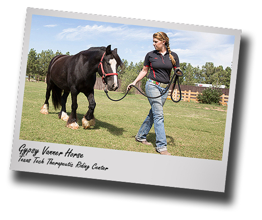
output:
M 146 54 L 142 71 L 139 73 L 135 81 L 127 86 L 127 90 L 132 86 L 135 86 L 138 81 L 144 78 L 150 68 L 145 86 L 146 95 L 150 97 L 159 96 L 163 94 L 165 88 L 169 84 L 172 68 L 179 68 L 178 56 L 170 50 L 169 38 L 166 33 L 158 32 L 153 34 L 153 46 L 155 50 Z M 171 155 L 167 151 L 167 139 L 164 128 L 163 105 L 167 96 L 168 92 L 160 98 L 148 98 L 151 109 L 136 135 L 136 141 L 146 145 L 152 145 L 146 141 L 146 136 L 154 124 L 156 137 L 155 150 L 160 154 Z

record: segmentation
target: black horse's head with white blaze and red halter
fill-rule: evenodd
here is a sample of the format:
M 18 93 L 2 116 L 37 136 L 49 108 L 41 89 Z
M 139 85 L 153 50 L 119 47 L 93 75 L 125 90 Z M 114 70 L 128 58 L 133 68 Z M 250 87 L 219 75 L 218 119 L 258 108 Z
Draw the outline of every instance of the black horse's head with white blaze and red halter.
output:
M 117 48 L 111 50 L 111 45 L 109 45 L 98 66 L 98 73 L 102 76 L 103 83 L 108 86 L 109 91 L 116 91 L 119 87 L 118 66 L 122 66 L 122 61 L 117 54 Z

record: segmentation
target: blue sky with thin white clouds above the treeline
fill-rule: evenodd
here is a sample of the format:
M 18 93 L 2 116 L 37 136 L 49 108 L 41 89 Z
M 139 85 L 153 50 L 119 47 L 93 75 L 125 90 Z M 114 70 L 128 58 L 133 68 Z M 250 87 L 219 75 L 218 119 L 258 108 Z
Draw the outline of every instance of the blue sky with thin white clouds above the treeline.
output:
M 234 36 L 153 28 L 149 26 L 99 22 L 62 17 L 33 15 L 29 51 L 35 49 L 57 50 L 76 54 L 90 47 L 112 45 L 121 59 L 144 62 L 146 53 L 154 50 L 152 36 L 165 32 L 171 51 L 176 52 L 179 62 L 202 67 L 206 62 L 224 69 L 231 67 Z

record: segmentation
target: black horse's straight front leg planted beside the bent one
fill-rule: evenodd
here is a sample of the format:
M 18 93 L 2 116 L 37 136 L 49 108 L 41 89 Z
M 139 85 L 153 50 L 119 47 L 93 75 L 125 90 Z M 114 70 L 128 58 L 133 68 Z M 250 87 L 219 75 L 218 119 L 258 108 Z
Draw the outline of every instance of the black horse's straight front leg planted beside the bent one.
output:
M 78 129 L 79 125 L 77 124 L 77 120 L 76 120 L 76 109 L 78 107 L 77 105 L 77 95 L 79 94 L 79 92 L 77 92 L 76 89 L 72 89 L 71 88 L 71 99 L 72 99 L 72 105 L 71 105 L 71 109 L 72 112 L 67 120 L 67 127 L 68 128 L 72 128 L 72 129 Z

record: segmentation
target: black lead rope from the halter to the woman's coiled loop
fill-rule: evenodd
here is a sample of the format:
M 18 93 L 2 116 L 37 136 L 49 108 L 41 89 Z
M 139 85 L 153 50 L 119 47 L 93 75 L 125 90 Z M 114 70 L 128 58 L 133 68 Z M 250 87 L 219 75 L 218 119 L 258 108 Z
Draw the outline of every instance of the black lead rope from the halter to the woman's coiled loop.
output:
M 181 74 L 178 74 L 178 73 L 177 73 L 178 71 L 181 72 Z M 181 98 L 182 98 L 182 92 L 181 92 L 181 88 L 180 88 L 180 84 L 179 84 L 178 77 L 179 77 L 179 76 L 183 76 L 183 75 L 184 75 L 184 74 L 183 74 L 183 72 L 182 72 L 180 69 L 175 69 L 175 72 L 174 72 L 174 74 L 173 74 L 173 76 L 172 76 L 172 79 L 170 80 L 169 85 L 168 85 L 168 87 L 165 89 L 164 93 L 161 94 L 161 95 L 159 95 L 159 96 L 156 96 L 156 97 L 147 96 L 147 95 L 145 95 L 140 89 L 138 89 L 136 86 L 132 86 L 132 87 L 135 87 L 143 96 L 145 96 L 145 97 L 147 97 L 147 98 L 151 98 L 151 99 L 159 98 L 159 97 L 163 96 L 164 94 L 166 94 L 166 92 L 169 90 L 169 88 L 170 88 L 170 86 L 171 86 L 171 83 L 172 83 L 173 79 L 175 78 L 175 79 L 174 79 L 174 83 L 173 83 L 173 88 L 172 88 L 172 91 L 171 91 L 170 96 L 171 96 L 171 100 L 172 100 L 173 102 L 179 102 L 179 101 L 181 100 Z M 177 81 L 177 85 L 178 85 L 179 93 L 180 93 L 180 97 L 179 97 L 178 100 L 174 100 L 173 97 L 172 97 L 172 94 L 173 94 L 173 92 L 174 92 L 174 88 L 175 88 L 175 85 L 176 85 L 176 81 Z M 130 90 L 130 89 L 129 89 L 129 90 Z M 120 100 L 122 100 L 122 99 L 127 95 L 127 93 L 129 92 L 129 90 L 126 91 L 126 93 L 124 94 L 124 96 L 123 96 L 122 98 L 115 100 L 115 99 L 112 99 L 112 98 L 109 97 L 107 87 L 104 88 L 104 92 L 106 93 L 107 97 L 108 97 L 110 100 L 112 100 L 112 101 L 120 101 Z

